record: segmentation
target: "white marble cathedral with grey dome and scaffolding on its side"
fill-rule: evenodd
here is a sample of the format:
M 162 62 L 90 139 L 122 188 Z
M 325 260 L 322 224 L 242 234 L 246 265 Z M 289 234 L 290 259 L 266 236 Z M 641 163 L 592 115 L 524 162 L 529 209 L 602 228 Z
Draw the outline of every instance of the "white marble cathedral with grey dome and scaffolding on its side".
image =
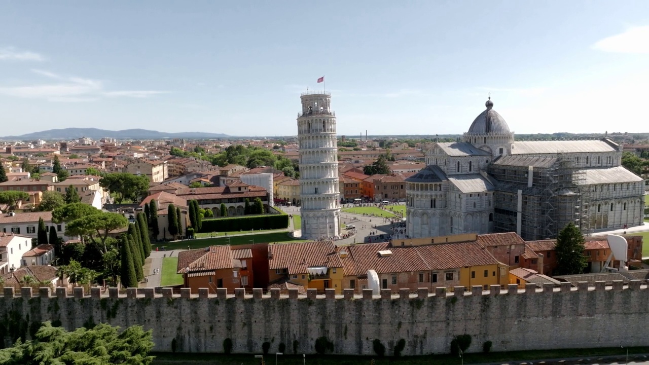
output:
M 408 236 L 516 232 L 554 238 L 569 222 L 590 233 L 643 224 L 644 182 L 601 140 L 514 142 L 493 109 L 461 142 L 435 143 L 427 167 L 406 179 Z

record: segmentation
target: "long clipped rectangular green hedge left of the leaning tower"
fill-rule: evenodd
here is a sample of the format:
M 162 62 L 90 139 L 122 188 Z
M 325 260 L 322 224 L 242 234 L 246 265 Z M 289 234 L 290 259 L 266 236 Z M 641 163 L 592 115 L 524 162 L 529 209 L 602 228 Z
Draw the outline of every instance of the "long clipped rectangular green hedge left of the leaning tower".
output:
M 250 231 L 254 229 L 284 229 L 288 227 L 287 214 L 267 214 L 265 216 L 240 216 L 203 220 L 200 233 Z

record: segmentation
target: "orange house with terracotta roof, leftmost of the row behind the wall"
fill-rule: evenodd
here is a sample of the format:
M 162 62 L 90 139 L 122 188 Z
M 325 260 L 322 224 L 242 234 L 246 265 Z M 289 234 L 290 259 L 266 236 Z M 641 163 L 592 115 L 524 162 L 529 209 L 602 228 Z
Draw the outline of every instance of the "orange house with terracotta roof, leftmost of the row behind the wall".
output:
M 183 274 L 184 287 L 198 293 L 199 288 L 252 288 L 252 250 L 231 249 L 230 245 L 210 246 L 178 253 L 177 272 Z

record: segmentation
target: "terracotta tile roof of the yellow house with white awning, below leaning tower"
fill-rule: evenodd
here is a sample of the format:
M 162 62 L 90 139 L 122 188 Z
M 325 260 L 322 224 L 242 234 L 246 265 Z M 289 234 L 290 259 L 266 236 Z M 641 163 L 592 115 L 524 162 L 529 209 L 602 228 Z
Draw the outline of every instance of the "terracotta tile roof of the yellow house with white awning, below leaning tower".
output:
M 268 260 L 269 269 L 288 269 L 291 275 L 308 273 L 307 268 L 313 266 L 343 267 L 332 241 L 269 245 L 268 252 L 269 255 L 272 253 Z

